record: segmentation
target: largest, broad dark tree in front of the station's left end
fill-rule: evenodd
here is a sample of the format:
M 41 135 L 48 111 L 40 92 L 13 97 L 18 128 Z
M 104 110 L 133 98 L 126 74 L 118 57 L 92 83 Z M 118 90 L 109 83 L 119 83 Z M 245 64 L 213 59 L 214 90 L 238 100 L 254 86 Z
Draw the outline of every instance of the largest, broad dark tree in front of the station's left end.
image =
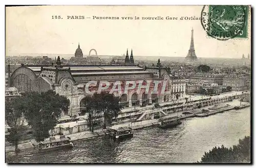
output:
M 26 92 L 22 95 L 23 113 L 33 129 L 36 141 L 44 141 L 50 136 L 62 111 L 68 111 L 70 101 L 53 90 L 47 92 Z

